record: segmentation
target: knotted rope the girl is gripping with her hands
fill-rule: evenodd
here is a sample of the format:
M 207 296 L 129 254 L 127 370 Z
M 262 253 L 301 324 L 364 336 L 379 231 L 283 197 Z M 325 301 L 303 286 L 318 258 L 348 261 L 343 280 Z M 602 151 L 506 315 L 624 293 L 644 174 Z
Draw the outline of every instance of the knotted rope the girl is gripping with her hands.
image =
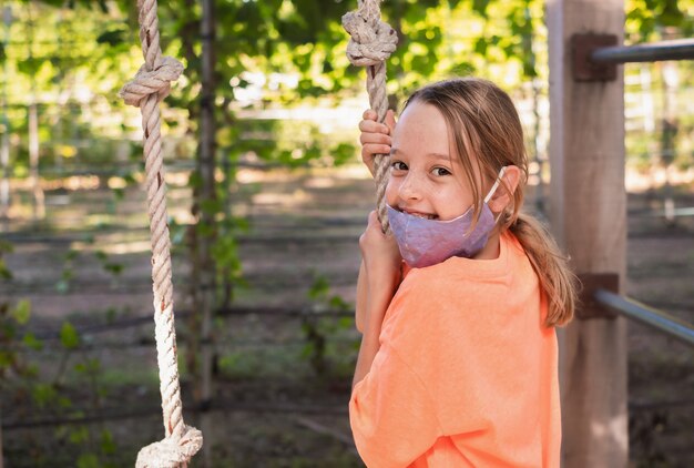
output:
M 367 67 L 366 90 L 369 104 L 384 122 L 388 111 L 386 91 L 386 60 L 395 52 L 398 34 L 380 20 L 380 0 L 358 0 L 357 11 L 343 17 L 343 27 L 351 39 L 347 45 L 347 58 L 354 65 Z M 386 210 L 386 185 L 388 184 L 388 155 L 374 156 L 376 180 L 376 206 L 384 232 L 388 231 Z

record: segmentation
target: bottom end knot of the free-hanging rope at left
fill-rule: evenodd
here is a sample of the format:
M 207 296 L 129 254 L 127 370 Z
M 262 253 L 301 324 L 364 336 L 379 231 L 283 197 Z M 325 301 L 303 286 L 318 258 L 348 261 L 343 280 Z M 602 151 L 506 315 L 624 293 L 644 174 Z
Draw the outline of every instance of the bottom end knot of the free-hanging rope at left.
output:
M 166 437 L 143 447 L 135 468 L 177 468 L 185 466 L 203 446 L 203 433 L 191 426 L 183 428 L 180 439 Z

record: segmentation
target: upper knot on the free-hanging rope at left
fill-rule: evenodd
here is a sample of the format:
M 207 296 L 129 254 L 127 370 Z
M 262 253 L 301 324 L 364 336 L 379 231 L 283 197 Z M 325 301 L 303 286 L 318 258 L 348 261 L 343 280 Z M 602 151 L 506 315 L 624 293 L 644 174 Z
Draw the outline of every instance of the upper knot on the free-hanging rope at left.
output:
M 172 57 L 164 57 L 162 63 L 154 70 L 147 70 L 146 64 L 140 67 L 135 78 L 119 91 L 119 96 L 135 108 L 139 108 L 150 94 L 156 94 L 157 102 L 161 102 L 171 92 L 171 82 L 176 81 L 181 73 L 183 64 Z

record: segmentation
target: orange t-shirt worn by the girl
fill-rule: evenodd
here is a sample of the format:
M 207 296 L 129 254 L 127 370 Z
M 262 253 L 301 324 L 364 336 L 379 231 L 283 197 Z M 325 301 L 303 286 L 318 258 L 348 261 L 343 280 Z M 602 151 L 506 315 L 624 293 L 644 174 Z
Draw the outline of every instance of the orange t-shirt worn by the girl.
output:
M 554 328 L 511 234 L 496 260 L 411 269 L 349 419 L 368 467 L 559 467 Z

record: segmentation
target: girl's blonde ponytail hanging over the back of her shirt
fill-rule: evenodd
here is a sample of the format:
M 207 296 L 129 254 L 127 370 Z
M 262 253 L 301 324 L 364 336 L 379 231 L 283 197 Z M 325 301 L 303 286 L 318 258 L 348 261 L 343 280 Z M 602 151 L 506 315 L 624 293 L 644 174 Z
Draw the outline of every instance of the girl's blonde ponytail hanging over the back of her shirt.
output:
M 540 279 L 540 288 L 548 302 L 547 327 L 567 325 L 573 318 L 578 281 L 559 246 L 539 221 L 518 213 L 509 230 L 520 242 L 532 268 Z

